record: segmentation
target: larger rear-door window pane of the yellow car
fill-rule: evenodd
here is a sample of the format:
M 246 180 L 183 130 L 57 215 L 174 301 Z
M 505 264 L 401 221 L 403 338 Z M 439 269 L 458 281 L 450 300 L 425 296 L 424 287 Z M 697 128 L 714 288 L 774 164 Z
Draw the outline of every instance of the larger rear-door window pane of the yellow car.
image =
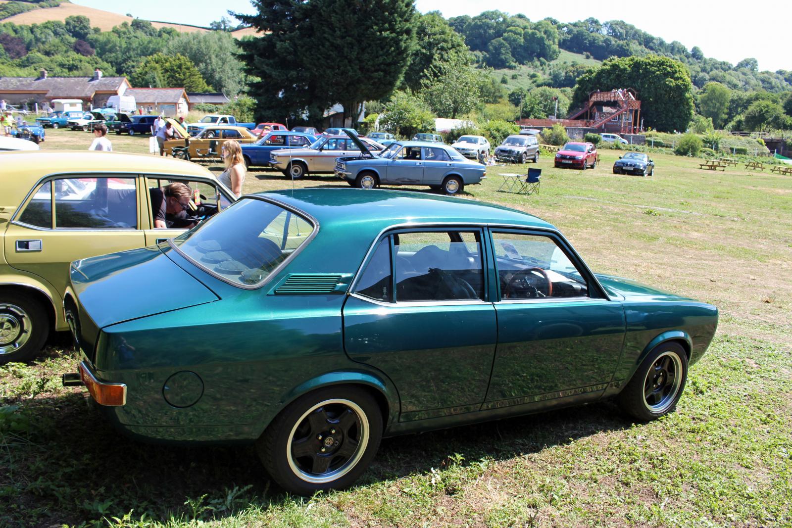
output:
M 55 229 L 137 229 L 135 178 L 53 180 Z

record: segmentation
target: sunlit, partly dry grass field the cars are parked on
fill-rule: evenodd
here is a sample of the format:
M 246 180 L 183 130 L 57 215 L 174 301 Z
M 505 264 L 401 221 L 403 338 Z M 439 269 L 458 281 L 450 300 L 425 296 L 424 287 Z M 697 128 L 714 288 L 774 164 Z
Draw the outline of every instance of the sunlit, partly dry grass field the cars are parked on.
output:
M 48 131 L 44 148 L 89 139 Z M 75 363 L 59 336 L 0 369 L 0 526 L 792 526 L 792 178 L 664 154 L 654 177 L 616 176 L 618 155 L 585 172 L 542 158 L 532 196 L 497 192 L 514 167 L 494 167 L 466 196 L 554 223 L 595 272 L 718 306 L 676 412 L 633 424 L 605 401 L 386 439 L 356 488 L 303 500 L 249 448 L 121 438 L 84 390 L 59 386 Z M 250 173 L 245 191 L 291 185 Z

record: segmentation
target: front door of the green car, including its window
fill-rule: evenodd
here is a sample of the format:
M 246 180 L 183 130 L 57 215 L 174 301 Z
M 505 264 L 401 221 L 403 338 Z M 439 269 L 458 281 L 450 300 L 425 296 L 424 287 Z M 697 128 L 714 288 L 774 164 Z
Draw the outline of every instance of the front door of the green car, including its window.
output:
M 485 408 L 599 393 L 621 355 L 625 317 L 565 241 L 491 229 L 498 344 Z

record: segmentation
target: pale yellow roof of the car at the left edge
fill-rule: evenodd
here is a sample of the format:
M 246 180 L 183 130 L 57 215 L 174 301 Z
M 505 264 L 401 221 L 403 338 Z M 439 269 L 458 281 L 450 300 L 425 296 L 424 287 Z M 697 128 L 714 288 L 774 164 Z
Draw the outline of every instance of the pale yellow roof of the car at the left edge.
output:
M 36 150 L 0 153 L 0 208 L 16 208 L 32 184 L 50 174 L 133 173 L 213 177 L 201 165 L 150 154 L 125 154 L 96 150 Z

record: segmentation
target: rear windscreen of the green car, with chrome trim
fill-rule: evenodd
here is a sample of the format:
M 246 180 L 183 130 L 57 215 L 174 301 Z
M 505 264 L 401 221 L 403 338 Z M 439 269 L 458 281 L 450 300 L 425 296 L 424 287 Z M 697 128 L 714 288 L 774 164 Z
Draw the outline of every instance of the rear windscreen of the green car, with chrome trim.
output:
M 315 229 L 296 211 L 246 198 L 174 238 L 173 247 L 228 283 L 256 287 L 297 253 Z

